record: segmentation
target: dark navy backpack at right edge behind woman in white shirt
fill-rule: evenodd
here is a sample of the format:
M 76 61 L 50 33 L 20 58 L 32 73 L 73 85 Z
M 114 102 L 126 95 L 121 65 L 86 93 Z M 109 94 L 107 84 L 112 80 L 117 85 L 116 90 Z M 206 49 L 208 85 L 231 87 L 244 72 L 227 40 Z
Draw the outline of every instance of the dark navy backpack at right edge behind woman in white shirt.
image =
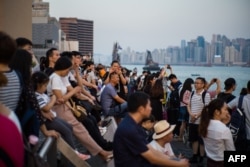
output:
M 228 125 L 233 136 L 236 151 L 246 151 L 247 149 L 246 116 L 242 109 L 243 98 L 244 96 L 239 97 L 238 106 L 233 110 Z

